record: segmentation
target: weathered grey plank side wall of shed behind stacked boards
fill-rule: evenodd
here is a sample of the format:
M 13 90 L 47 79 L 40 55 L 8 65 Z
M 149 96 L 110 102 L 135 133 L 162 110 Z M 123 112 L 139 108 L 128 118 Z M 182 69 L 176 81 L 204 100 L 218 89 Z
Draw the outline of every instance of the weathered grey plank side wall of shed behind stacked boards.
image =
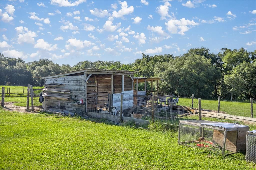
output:
M 67 89 L 72 93 L 69 93 L 70 97 L 74 100 L 83 99 L 85 101 L 85 77 L 82 76 L 62 76 L 58 78 L 45 79 L 45 84 L 65 84 L 63 86 L 52 86 L 49 88 L 54 89 Z M 51 94 L 61 94 L 52 93 Z M 85 110 L 85 105 L 75 105 L 73 100 L 60 100 L 60 99 L 49 99 L 45 98 L 45 102 L 48 108 L 65 109 L 71 112 L 75 112 L 77 108 Z

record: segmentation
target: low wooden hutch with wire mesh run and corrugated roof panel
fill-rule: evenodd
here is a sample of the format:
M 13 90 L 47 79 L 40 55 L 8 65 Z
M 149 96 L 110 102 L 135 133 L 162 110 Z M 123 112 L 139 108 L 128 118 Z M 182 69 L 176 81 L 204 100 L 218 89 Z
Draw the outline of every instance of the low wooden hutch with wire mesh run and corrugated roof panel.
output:
M 188 146 L 225 150 L 235 153 L 246 150 L 249 126 L 208 120 L 180 120 L 178 143 Z

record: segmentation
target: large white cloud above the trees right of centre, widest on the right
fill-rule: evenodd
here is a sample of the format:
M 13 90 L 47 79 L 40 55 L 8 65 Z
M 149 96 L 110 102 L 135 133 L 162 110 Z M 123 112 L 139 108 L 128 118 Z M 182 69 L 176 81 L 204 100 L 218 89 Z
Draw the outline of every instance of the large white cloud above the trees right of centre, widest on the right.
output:
M 167 26 L 167 30 L 172 34 L 181 34 L 185 35 L 184 32 L 188 31 L 192 26 L 197 26 L 198 23 L 196 23 L 194 20 L 186 20 L 185 18 L 182 18 L 180 20 L 171 19 L 167 23 L 165 22 L 165 25 Z M 190 26 L 190 27 L 188 27 Z

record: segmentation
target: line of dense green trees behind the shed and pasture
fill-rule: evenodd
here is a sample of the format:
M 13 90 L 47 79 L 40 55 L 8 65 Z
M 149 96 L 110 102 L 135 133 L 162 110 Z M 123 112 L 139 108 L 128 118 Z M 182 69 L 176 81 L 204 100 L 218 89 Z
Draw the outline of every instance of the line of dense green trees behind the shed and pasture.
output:
M 74 66 L 59 65 L 49 59 L 26 63 L 21 58 L 11 58 L 1 53 L 1 85 L 21 86 L 27 83 L 42 86 L 38 76 L 47 76 L 84 68 L 133 70 L 138 77 L 163 77 L 159 82 L 159 91 L 167 91 L 179 96 L 216 99 L 248 100 L 256 99 L 256 50 L 249 52 L 222 48 L 218 54 L 210 53 L 209 48 L 191 48 L 187 53 L 174 56 L 145 55 L 133 63 L 120 61 L 82 61 Z M 148 84 L 151 91 L 151 84 Z M 140 90 L 144 84 L 140 83 Z M 156 84 L 153 84 L 156 90 Z

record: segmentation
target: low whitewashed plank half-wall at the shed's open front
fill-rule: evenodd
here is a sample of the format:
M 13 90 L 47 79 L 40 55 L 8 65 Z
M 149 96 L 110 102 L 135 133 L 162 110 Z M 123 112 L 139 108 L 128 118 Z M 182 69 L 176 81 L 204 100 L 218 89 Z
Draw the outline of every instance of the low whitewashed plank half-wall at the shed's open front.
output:
M 121 95 L 123 95 L 123 110 L 132 108 L 133 102 L 133 90 L 125 91 L 118 94 L 113 94 L 113 105 L 119 111 L 121 107 Z

